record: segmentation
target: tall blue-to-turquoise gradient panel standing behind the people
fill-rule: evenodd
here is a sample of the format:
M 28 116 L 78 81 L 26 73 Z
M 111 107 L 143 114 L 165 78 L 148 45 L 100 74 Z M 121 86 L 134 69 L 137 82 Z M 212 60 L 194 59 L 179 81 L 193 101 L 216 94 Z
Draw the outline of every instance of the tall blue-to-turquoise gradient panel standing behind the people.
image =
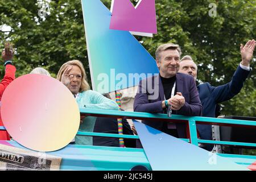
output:
M 129 31 L 109 29 L 111 13 L 100 0 L 82 0 L 82 11 L 93 90 L 129 88 L 159 73 L 154 58 Z

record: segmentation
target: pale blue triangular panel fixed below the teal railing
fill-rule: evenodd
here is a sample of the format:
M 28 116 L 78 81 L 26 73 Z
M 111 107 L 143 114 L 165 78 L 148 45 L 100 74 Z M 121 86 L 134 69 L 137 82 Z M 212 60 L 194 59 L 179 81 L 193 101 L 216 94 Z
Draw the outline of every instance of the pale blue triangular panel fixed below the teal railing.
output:
M 154 171 L 249 171 L 230 159 L 133 121 Z

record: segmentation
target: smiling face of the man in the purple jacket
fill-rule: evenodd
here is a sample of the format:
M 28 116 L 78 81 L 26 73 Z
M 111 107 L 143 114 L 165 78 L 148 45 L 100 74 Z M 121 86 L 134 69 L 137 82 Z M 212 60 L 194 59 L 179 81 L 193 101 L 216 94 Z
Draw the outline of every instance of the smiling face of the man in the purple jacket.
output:
M 171 78 L 179 70 L 180 55 L 177 50 L 167 49 L 160 53 L 160 59 L 156 60 L 160 75 L 164 78 Z

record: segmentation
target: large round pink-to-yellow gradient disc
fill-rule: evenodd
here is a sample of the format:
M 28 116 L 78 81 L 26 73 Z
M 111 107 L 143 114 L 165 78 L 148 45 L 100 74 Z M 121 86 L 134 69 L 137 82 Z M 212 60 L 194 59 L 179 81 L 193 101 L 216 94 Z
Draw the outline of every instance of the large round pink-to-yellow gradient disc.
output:
M 80 124 L 79 107 L 68 88 L 38 74 L 20 76 L 7 86 L 1 116 L 16 142 L 45 152 L 67 146 Z

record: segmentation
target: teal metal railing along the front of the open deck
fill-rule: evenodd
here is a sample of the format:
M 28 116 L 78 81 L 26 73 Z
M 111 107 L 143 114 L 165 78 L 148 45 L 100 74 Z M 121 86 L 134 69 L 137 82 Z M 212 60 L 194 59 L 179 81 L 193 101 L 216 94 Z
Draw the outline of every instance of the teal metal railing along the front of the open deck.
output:
M 246 146 L 256 147 L 256 143 L 245 142 L 227 142 L 220 140 L 203 140 L 197 138 L 196 123 L 205 125 L 220 125 L 220 126 L 249 126 L 256 127 L 255 121 L 237 120 L 237 119 L 222 119 L 222 118 L 208 118 L 208 117 L 186 117 L 184 115 L 172 115 L 169 118 L 166 114 L 151 114 L 151 113 L 138 113 L 127 111 L 115 111 L 115 110 L 100 110 L 100 109 L 80 109 L 81 115 L 94 116 L 94 117 L 113 117 L 113 118 L 125 118 L 125 119 L 155 119 L 158 121 L 172 121 L 172 122 L 185 122 L 188 125 L 189 138 L 181 138 L 184 141 L 190 142 L 198 146 L 199 143 L 205 144 L 219 144 L 219 145 L 234 145 L 234 146 Z M 5 127 L 0 126 L 0 130 L 5 130 Z M 93 132 L 81 132 L 77 135 L 83 136 L 97 136 L 97 137 L 113 137 L 120 138 L 119 134 L 106 134 L 106 133 L 93 133 Z M 122 138 L 127 139 L 139 139 L 137 135 L 122 135 Z

